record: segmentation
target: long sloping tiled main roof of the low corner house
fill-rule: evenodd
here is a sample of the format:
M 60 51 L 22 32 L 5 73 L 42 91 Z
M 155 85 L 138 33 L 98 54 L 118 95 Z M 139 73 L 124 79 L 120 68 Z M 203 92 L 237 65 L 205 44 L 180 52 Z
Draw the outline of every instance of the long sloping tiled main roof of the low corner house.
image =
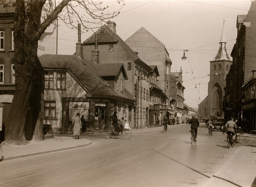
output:
M 119 95 L 109 84 L 99 77 L 93 62 L 81 60 L 76 55 L 48 55 L 39 57 L 44 69 L 67 69 L 84 90 L 93 97 L 101 98 L 126 98 L 135 101 L 133 96 L 127 92 Z

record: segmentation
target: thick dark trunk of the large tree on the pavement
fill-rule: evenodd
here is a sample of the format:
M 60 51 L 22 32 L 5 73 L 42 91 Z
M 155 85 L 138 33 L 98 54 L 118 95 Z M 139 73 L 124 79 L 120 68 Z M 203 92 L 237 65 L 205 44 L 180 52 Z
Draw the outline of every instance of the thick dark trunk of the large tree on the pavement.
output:
M 28 140 L 32 139 L 31 134 L 33 135 L 34 133 L 38 114 L 41 116 L 41 120 L 38 121 L 41 128 L 38 130 L 42 130 L 43 113 L 41 104 L 43 104 L 43 101 L 41 101 L 41 98 L 43 98 L 42 95 L 44 93 L 44 70 L 37 56 L 38 40 L 41 36 L 38 34 L 41 6 L 39 4 L 31 4 L 30 12 L 33 13 L 33 16 L 29 17 L 28 29 L 25 35 L 26 12 L 24 0 L 16 1 L 15 56 L 13 59 L 15 64 L 16 90 L 6 124 L 5 143 L 7 144 L 24 144 L 26 142 L 24 126 L 29 108 L 33 110 L 33 119 L 32 124 L 26 126 L 26 138 Z M 35 9 L 39 9 L 39 11 Z

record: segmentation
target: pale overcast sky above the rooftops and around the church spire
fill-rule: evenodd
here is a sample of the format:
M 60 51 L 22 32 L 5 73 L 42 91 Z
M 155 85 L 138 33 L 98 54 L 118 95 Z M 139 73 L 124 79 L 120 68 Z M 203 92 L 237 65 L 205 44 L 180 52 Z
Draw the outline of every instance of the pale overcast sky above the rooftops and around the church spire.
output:
M 112 1 L 106 3 L 113 5 Z M 250 0 L 125 0 L 121 13 L 111 21 L 116 23 L 116 33 L 123 40 L 144 27 L 165 44 L 172 60 L 172 72 L 179 72 L 180 66 L 183 70 L 183 86 L 186 88 L 184 103 L 198 108 L 198 104 L 208 94 L 209 61 L 218 52 L 223 20 L 227 52 L 230 55 L 236 42 L 237 15 L 247 14 L 250 4 Z M 92 31 L 82 33 L 82 42 L 92 34 Z M 55 38 L 56 33 L 39 42 L 45 47 L 45 51 L 38 49 L 39 55 L 56 54 Z M 73 55 L 77 40 L 76 29 L 60 26 L 58 54 Z M 184 49 L 189 50 L 186 52 L 187 59 L 181 60 Z

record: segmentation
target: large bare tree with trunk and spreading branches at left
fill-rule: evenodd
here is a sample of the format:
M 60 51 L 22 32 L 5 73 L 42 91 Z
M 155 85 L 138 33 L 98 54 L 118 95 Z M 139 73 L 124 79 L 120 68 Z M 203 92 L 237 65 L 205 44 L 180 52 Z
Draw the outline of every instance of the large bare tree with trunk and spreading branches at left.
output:
M 38 60 L 38 40 L 54 20 L 62 20 L 70 29 L 98 28 L 105 20 L 116 17 L 108 6 L 93 0 L 0 0 L 2 7 L 15 7 L 15 95 L 7 118 L 5 144 L 26 143 L 26 131 L 42 131 L 44 119 L 44 69 Z M 56 6 L 57 4 L 57 6 Z M 115 6 L 116 7 L 116 6 Z M 27 26 L 26 26 L 27 24 Z M 25 30 L 26 28 L 26 30 Z M 28 112 L 29 111 L 29 112 Z M 32 115 L 32 125 L 27 121 Z

